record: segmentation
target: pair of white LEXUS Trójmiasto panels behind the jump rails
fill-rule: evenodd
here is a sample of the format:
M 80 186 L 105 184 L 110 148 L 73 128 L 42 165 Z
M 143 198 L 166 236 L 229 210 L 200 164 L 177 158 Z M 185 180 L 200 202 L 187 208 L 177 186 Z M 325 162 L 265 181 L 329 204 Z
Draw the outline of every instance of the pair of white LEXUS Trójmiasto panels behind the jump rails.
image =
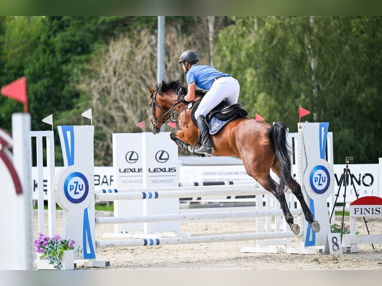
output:
M 113 134 L 113 166 L 117 188 L 177 187 L 179 185 L 178 148 L 170 133 L 154 135 Z M 179 212 L 176 199 L 156 201 L 117 201 L 114 216 L 171 214 Z M 115 225 L 115 234 L 132 231 L 179 232 L 179 223 Z

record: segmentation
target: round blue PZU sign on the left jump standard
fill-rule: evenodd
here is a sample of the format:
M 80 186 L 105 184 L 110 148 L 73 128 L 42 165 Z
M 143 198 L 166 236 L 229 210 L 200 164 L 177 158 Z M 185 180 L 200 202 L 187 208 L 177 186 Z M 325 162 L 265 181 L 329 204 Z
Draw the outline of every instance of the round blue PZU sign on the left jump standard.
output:
M 86 199 L 89 192 L 89 183 L 86 177 L 80 172 L 71 173 L 64 182 L 64 192 L 66 198 L 78 204 Z

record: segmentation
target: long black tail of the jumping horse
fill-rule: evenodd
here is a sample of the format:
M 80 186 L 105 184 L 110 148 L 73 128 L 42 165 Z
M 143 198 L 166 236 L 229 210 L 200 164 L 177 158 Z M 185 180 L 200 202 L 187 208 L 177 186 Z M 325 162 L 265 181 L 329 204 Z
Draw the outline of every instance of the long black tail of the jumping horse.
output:
M 284 123 L 277 122 L 268 130 L 268 137 L 275 146 L 276 159 L 280 164 L 280 191 L 284 191 L 288 177 L 291 175 L 289 144 L 286 140 L 288 130 Z

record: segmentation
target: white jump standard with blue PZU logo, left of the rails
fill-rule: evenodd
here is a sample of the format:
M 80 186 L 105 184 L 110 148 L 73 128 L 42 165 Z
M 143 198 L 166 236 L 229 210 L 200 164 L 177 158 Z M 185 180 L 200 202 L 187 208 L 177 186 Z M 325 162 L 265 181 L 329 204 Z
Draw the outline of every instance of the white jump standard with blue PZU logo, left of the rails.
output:
M 61 237 L 74 238 L 74 259 L 95 259 L 93 126 L 58 126 L 64 168 L 54 177 L 57 204 L 64 209 Z

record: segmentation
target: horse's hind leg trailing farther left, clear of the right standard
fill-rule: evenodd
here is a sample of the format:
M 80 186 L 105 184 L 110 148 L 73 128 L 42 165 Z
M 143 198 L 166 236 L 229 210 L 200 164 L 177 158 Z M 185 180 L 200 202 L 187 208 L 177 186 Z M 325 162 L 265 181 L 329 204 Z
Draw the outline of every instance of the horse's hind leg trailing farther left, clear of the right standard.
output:
M 284 214 L 285 221 L 289 225 L 291 231 L 298 235 L 300 233 L 300 226 L 293 222 L 293 215 L 291 214 L 288 203 L 285 198 L 284 192 L 278 191 L 278 184 L 271 178 L 270 175 L 265 176 L 260 179 L 259 177 L 255 178 L 256 181 L 267 191 L 272 193 L 276 199 L 280 202 L 281 209 Z

